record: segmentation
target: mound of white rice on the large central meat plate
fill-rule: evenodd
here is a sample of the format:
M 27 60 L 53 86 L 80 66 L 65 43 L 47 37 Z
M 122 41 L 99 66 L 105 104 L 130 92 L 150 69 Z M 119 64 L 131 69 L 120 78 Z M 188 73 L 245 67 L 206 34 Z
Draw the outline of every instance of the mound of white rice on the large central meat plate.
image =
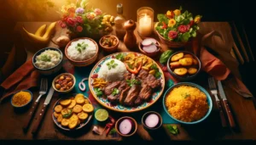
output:
M 115 68 L 109 70 L 108 63 L 114 60 L 114 64 L 117 64 Z M 98 72 L 98 77 L 104 79 L 105 81 L 121 81 L 125 78 L 125 73 L 127 72 L 125 64 L 118 59 L 108 59 L 102 64 L 101 69 Z

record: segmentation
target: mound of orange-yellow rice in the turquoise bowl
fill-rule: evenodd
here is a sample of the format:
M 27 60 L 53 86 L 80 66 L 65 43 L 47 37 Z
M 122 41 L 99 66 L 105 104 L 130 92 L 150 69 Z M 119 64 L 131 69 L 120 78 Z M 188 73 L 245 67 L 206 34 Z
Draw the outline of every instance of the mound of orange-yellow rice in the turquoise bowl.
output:
M 201 120 L 209 109 L 207 95 L 193 86 L 178 86 L 166 97 L 166 108 L 177 120 Z

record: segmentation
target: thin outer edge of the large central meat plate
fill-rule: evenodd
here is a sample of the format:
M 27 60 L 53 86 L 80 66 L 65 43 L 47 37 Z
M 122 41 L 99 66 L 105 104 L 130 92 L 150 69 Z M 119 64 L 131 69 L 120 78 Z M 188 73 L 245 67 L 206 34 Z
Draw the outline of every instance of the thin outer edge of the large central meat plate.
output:
M 119 52 L 119 53 L 137 53 L 137 52 Z M 161 91 L 160 91 L 160 93 L 159 93 L 159 97 L 155 99 L 154 103 L 150 103 L 150 104 L 147 105 L 146 107 L 143 107 L 143 108 L 141 108 L 141 109 L 135 109 L 135 110 L 113 109 L 112 107 L 106 105 L 105 103 L 102 103 L 102 101 L 96 96 L 96 94 L 93 93 L 93 89 L 92 89 L 91 86 L 90 86 L 90 80 L 91 80 L 90 78 L 91 78 L 91 75 L 92 75 L 93 71 L 96 70 L 96 67 L 102 62 L 102 60 L 107 59 L 108 57 L 112 57 L 113 55 L 118 55 L 119 53 L 112 53 L 112 54 L 109 54 L 109 55 L 103 57 L 102 59 L 100 59 L 100 60 L 94 65 L 94 67 L 93 67 L 92 70 L 90 71 L 89 81 L 88 81 L 88 83 L 89 83 L 88 85 L 89 85 L 89 88 L 90 88 L 90 93 L 91 93 L 91 95 L 92 95 L 93 98 L 95 98 L 96 101 L 97 101 L 98 103 L 100 103 L 103 107 L 105 107 L 105 108 L 107 108 L 107 109 L 110 109 L 110 110 L 113 110 L 113 111 L 116 111 L 116 112 L 121 112 L 121 113 L 133 113 L 133 112 L 141 111 L 141 110 L 143 110 L 143 109 L 148 109 L 148 107 L 152 106 L 154 103 L 156 103 L 156 102 L 160 99 L 162 93 L 163 93 L 164 90 L 165 90 L 166 80 L 165 80 L 164 72 L 163 72 L 163 70 L 161 70 L 159 64 L 157 64 L 157 63 L 154 61 L 154 59 L 151 59 L 150 57 L 148 57 L 147 55 L 144 55 L 143 53 L 137 53 L 137 54 L 146 56 L 147 58 L 153 60 L 153 62 L 157 65 L 157 67 L 159 68 L 159 70 L 160 70 L 160 72 L 161 72 L 161 74 L 162 74 L 162 76 L 163 76 L 163 79 L 162 79 L 162 80 L 163 80 L 163 84 L 162 84 L 163 88 L 161 89 Z

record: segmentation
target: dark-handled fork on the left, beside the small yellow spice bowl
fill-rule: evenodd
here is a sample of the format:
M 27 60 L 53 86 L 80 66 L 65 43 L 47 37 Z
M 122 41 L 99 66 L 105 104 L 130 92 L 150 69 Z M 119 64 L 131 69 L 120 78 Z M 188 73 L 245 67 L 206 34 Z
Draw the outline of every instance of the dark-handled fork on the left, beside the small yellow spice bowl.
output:
M 47 89 L 48 89 L 48 80 L 47 80 L 47 78 L 42 78 L 41 79 L 39 96 L 36 99 L 36 101 L 33 103 L 32 109 L 28 114 L 29 116 L 28 116 L 25 124 L 23 125 L 24 131 L 26 131 L 28 129 L 28 126 L 30 125 L 30 122 L 32 121 L 32 117 L 34 116 L 36 110 L 38 109 L 38 102 L 40 101 L 40 98 L 42 98 L 42 96 L 44 96 L 44 94 L 46 94 Z

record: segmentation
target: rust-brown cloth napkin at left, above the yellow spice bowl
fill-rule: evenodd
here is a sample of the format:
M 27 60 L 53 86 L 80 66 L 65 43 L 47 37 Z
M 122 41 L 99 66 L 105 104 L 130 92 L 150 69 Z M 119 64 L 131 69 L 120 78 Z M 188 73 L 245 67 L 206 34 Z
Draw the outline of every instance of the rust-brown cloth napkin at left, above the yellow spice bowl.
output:
M 34 69 L 32 59 L 27 60 L 25 64 L 22 64 L 19 69 L 15 70 L 15 72 L 1 84 L 5 89 L 5 93 L 3 97 L 0 98 L 0 102 L 15 92 L 37 86 L 38 79 L 39 73 Z

